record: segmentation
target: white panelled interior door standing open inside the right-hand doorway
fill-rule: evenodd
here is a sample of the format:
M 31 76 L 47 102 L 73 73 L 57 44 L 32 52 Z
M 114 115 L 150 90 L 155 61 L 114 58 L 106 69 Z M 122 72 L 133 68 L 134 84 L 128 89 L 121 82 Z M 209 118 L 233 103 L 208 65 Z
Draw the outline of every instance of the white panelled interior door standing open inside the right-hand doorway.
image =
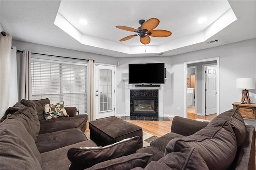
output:
M 205 84 L 205 114 L 211 115 L 216 113 L 216 73 L 217 67 L 206 67 L 206 84 Z

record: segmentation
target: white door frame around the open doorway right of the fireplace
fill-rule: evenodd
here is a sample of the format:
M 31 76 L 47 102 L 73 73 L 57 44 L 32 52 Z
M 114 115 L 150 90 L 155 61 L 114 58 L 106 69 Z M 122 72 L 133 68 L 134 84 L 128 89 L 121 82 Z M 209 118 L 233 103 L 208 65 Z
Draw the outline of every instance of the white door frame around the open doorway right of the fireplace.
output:
M 185 61 L 184 62 L 184 76 L 183 76 L 183 97 L 184 97 L 184 114 L 183 117 L 187 118 L 187 113 L 188 113 L 188 108 L 187 108 L 187 101 L 186 101 L 186 96 L 187 96 L 187 77 L 188 77 L 188 64 L 193 64 L 193 63 L 202 63 L 206 61 L 216 61 L 217 65 L 217 83 L 216 83 L 216 89 L 217 89 L 217 101 L 216 101 L 216 110 L 217 110 L 217 115 L 220 114 L 220 57 L 214 57 L 214 58 L 206 58 L 206 59 L 200 59 L 200 60 L 194 60 L 194 61 Z

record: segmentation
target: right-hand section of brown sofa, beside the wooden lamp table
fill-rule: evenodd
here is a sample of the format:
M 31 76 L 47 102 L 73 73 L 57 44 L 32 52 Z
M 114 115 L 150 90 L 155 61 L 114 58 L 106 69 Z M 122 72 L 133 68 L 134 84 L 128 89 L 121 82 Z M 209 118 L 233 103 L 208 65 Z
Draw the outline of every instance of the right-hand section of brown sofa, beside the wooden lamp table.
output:
M 170 158 L 169 154 L 172 153 L 174 159 L 174 154 L 180 154 L 184 148 L 195 148 L 204 162 L 194 160 L 194 164 L 206 163 L 210 170 L 255 170 L 255 128 L 244 125 L 237 109 L 218 115 L 210 123 L 174 117 L 170 133 L 154 140 L 150 146 L 138 149 L 136 153 L 152 154 L 146 170 L 153 170 L 154 167 L 173 169 L 177 167 L 165 157 Z

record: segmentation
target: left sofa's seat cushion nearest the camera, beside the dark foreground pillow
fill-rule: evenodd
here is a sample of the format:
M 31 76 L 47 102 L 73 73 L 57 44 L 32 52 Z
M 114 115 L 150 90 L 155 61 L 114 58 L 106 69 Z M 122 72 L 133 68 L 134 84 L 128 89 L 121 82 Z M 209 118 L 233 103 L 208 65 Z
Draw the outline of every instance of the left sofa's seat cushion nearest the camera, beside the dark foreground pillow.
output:
M 64 146 L 49 152 L 44 152 L 42 156 L 42 169 L 43 170 L 68 170 L 71 162 L 68 160 L 67 152 L 70 148 L 87 146 L 97 146 L 92 140 L 86 140 L 76 144 Z

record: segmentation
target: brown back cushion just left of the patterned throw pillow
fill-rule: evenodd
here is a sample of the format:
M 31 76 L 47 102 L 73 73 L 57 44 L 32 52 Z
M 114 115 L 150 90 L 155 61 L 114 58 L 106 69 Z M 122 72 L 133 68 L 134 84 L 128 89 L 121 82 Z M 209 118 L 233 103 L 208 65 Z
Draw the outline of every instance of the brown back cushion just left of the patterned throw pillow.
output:
M 50 104 L 50 100 L 48 98 L 46 99 L 40 99 L 40 100 L 25 100 L 22 99 L 20 101 L 21 104 L 28 106 L 32 104 L 36 104 L 36 111 L 38 114 L 39 121 L 44 119 L 44 104 Z

